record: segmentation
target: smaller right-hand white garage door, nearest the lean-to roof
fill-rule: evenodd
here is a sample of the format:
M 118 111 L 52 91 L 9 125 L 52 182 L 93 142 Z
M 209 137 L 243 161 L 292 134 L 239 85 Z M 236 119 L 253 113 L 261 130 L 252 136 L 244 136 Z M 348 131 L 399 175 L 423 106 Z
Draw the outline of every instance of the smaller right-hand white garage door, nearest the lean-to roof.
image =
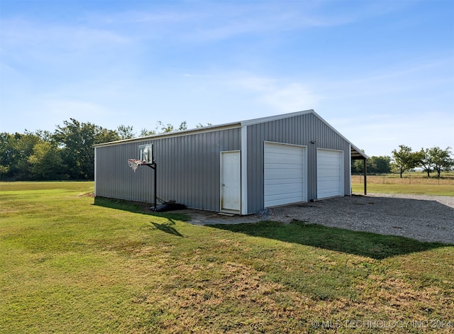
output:
M 317 150 L 317 198 L 343 196 L 342 152 Z

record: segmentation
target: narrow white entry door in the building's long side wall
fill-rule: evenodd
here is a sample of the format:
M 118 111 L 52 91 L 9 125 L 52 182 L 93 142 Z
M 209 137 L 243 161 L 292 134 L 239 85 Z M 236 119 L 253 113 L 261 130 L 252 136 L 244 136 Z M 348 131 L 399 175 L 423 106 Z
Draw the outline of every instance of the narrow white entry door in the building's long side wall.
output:
M 241 209 L 240 152 L 221 152 L 221 211 Z

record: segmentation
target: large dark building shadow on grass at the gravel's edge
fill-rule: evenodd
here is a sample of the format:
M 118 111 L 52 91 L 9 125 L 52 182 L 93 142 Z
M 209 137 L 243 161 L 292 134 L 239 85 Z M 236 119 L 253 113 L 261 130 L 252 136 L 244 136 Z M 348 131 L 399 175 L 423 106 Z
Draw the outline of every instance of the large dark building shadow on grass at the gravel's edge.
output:
M 331 228 L 302 221 L 292 221 L 288 224 L 261 221 L 253 224 L 211 225 L 211 227 L 244 233 L 254 237 L 275 239 L 286 243 L 298 243 L 336 252 L 371 257 L 376 260 L 447 246 L 443 243 L 427 243 L 396 235 L 380 235 L 377 233 L 345 230 L 343 228 Z

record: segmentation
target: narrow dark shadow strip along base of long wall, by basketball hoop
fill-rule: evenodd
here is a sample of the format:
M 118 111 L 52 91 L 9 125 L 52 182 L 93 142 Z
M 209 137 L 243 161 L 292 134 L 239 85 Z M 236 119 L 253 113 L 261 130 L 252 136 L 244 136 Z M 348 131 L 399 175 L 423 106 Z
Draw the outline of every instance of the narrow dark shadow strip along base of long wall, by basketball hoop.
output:
M 93 205 L 103 206 L 104 208 L 114 208 L 116 210 L 129 211 L 133 213 L 142 213 L 149 216 L 163 217 L 169 219 L 169 221 L 189 221 L 191 219 L 190 216 L 184 213 L 152 211 L 150 209 L 151 204 L 143 202 L 123 201 L 121 199 L 108 199 L 106 197 L 95 197 Z

